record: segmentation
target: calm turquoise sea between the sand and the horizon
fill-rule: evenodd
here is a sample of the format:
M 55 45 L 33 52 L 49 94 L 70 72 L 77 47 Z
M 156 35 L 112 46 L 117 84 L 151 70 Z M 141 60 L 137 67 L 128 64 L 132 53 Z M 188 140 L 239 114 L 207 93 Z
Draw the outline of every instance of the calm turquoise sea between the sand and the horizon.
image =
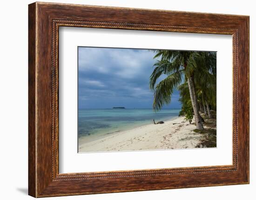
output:
M 152 123 L 166 121 L 179 115 L 179 109 L 79 109 L 78 138 L 91 141 L 99 137 Z M 88 139 L 87 139 L 88 138 Z

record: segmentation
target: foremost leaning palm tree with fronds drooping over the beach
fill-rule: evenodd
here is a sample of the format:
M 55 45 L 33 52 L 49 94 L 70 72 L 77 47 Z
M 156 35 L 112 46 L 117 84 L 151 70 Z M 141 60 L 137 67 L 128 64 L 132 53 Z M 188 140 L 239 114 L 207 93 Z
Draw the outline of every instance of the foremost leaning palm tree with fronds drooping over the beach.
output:
M 169 51 L 154 50 L 156 55 L 154 58 L 161 57 L 156 61 L 155 69 L 150 76 L 149 86 L 155 90 L 153 109 L 160 110 L 164 104 L 171 102 L 171 95 L 182 81 L 188 83 L 189 95 L 195 115 L 196 129 L 203 129 L 199 115 L 199 107 L 196 97 L 194 71 L 197 57 L 201 56 L 198 52 L 189 51 Z M 161 75 L 167 75 L 156 86 L 156 81 Z

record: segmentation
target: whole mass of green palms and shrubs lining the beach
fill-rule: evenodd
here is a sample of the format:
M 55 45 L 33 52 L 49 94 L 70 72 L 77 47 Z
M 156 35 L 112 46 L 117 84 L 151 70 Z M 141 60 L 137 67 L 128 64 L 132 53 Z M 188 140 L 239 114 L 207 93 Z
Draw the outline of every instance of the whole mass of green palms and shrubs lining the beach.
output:
M 161 110 L 179 90 L 182 103 L 180 115 L 203 130 L 204 119 L 216 111 L 216 52 L 153 50 L 157 58 L 149 78 L 154 90 L 153 109 Z

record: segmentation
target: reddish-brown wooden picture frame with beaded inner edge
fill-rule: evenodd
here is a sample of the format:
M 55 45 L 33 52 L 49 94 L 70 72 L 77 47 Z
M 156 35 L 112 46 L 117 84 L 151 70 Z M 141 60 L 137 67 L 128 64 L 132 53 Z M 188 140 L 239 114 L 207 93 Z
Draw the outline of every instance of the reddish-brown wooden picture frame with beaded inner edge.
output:
M 28 21 L 29 195 L 47 197 L 249 183 L 249 16 L 36 2 L 29 5 Z M 59 174 L 60 26 L 232 35 L 233 164 Z

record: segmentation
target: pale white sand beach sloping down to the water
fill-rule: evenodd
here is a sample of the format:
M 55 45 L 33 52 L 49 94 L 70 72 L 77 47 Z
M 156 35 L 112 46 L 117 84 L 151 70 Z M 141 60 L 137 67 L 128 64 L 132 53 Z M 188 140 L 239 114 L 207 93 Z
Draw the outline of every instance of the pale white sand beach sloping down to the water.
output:
M 152 123 L 113 133 L 92 142 L 81 140 L 79 152 L 195 148 L 203 136 L 193 129 L 195 125 L 181 116 L 163 124 Z

